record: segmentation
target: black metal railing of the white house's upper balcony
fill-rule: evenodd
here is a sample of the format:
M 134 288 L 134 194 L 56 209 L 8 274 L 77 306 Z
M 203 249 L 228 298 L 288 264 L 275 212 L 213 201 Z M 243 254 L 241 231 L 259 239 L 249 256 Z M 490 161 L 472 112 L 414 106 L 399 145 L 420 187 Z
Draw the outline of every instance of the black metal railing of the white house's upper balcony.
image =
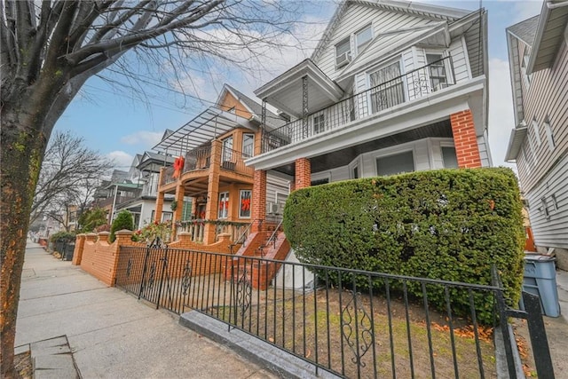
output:
M 312 138 L 328 130 L 343 128 L 355 120 L 441 91 L 455 83 L 451 67 L 452 57 L 439 59 L 307 117 L 288 122 L 279 129 L 264 134 L 263 152 Z

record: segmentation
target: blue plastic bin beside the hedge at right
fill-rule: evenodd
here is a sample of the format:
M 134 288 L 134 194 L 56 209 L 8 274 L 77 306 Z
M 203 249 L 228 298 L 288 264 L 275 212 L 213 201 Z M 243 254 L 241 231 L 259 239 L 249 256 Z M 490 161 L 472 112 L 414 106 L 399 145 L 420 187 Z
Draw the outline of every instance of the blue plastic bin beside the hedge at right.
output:
M 540 308 L 544 315 L 549 317 L 560 316 L 555 261 L 554 257 L 525 255 L 523 289 L 540 297 Z

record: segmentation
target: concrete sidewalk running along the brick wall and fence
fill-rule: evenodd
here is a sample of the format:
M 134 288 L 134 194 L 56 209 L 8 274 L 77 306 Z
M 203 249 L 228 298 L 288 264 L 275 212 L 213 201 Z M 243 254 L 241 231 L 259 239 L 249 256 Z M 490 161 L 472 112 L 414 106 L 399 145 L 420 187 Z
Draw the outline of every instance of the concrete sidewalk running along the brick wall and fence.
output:
M 16 346 L 31 348 L 36 378 L 274 377 L 177 320 L 28 241 Z

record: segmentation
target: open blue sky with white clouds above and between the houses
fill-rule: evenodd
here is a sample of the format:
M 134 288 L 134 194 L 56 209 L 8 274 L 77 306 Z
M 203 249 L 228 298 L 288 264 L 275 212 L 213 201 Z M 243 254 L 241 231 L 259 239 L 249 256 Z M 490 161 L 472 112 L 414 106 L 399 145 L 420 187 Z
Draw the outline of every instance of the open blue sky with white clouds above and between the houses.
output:
M 515 126 L 505 29 L 539 14 L 541 0 L 421 2 L 471 11 L 477 10 L 481 3 L 487 10 L 489 144 L 494 166 L 514 168 L 514 165 L 504 162 L 510 130 Z M 223 83 L 229 83 L 255 99 L 253 91 L 256 88 L 309 57 L 336 4 L 334 0 L 314 0 L 306 6 L 304 14 L 299 15 L 304 22 L 295 30 L 297 38 L 303 41 L 303 51 L 291 48 L 269 51 L 263 59 L 264 67 L 253 74 L 233 67 L 211 67 L 207 74 L 195 72 L 173 85 L 141 74 L 138 84 L 143 92 L 117 89 L 108 81 L 93 77 L 67 107 L 55 130 L 72 130 L 91 149 L 113 160 L 116 169 L 128 170 L 134 155 L 150 150 L 160 141 L 166 128 L 177 130 L 213 105 Z M 292 39 L 283 43 L 295 44 Z M 101 74 L 106 75 L 105 72 Z

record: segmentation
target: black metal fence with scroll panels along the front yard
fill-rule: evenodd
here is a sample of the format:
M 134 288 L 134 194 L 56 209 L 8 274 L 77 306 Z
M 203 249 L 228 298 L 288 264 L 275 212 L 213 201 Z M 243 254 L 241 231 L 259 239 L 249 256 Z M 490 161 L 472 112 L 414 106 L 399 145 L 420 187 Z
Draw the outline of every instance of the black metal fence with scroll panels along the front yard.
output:
M 121 247 L 116 285 L 343 377 L 495 377 L 493 333 L 517 317 L 497 285 L 181 249 Z

